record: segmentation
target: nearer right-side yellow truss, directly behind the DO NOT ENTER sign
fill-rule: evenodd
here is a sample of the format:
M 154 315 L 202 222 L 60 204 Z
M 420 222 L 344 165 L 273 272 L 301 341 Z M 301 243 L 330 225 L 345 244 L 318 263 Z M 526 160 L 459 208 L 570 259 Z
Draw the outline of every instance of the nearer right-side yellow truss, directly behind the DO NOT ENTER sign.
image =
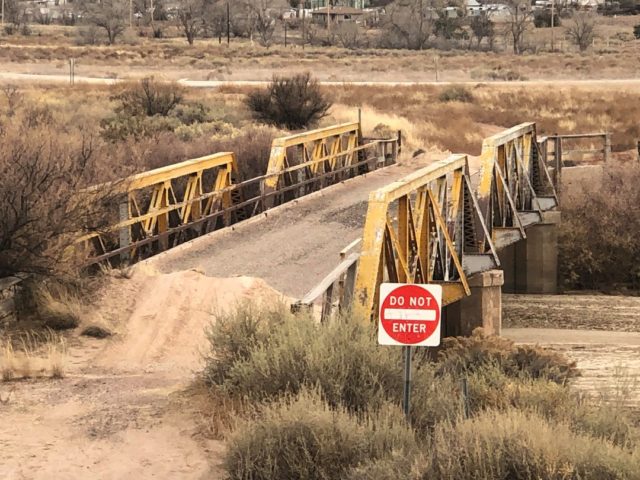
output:
M 453 155 L 371 193 L 354 313 L 375 315 L 383 282 L 441 284 L 446 305 L 470 294 L 468 275 L 498 265 L 467 156 Z

